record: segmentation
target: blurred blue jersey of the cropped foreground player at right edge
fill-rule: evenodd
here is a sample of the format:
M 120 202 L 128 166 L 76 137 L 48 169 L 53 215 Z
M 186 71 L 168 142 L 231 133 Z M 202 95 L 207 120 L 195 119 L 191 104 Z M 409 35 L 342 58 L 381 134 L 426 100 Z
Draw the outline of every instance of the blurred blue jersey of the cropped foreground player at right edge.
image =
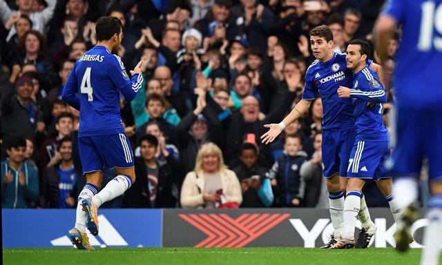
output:
M 398 106 L 441 109 L 442 0 L 390 0 L 383 14 L 403 26 L 394 71 Z

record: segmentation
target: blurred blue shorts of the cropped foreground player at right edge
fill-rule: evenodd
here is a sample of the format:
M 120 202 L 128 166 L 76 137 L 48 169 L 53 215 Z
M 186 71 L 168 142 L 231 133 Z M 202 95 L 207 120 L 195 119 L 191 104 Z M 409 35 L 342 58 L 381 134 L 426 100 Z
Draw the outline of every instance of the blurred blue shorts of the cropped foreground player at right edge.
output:
M 395 107 L 393 172 L 397 177 L 419 177 L 428 159 L 429 181 L 442 181 L 442 111 Z

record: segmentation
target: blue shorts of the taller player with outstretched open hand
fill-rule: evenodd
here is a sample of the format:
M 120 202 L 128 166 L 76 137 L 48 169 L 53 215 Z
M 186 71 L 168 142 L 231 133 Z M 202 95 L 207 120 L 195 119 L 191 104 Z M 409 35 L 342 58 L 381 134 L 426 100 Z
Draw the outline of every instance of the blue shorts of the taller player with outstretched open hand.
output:
M 347 177 L 347 165 L 354 144 L 354 129 L 323 130 L 323 172 L 324 177 Z

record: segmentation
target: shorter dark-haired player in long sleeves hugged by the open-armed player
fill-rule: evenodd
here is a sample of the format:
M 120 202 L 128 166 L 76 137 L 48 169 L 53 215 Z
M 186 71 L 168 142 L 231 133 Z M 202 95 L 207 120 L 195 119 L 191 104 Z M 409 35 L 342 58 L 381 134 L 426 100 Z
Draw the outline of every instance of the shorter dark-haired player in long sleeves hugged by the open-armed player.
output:
M 385 90 L 374 70 L 367 66 L 370 46 L 367 41 L 354 39 L 347 46 L 347 68 L 353 72 L 353 88 L 341 86 L 338 95 L 352 99 L 356 125 L 355 141 L 347 169 L 347 195 L 344 204 L 343 237 L 332 248 L 353 248 L 356 216 L 361 205 L 364 179 L 374 179 L 387 199 L 396 224 L 401 220 L 403 208 L 398 207 L 392 194 L 392 175 L 384 163 L 390 158 L 390 133 L 383 125 Z M 374 106 L 367 106 L 367 102 Z M 410 236 L 412 241 L 412 237 Z

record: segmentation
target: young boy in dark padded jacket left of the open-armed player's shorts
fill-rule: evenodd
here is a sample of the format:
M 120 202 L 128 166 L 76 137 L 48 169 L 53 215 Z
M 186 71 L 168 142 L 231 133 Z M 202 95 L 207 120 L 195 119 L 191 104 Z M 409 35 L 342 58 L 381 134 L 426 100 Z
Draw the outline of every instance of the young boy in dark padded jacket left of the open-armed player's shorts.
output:
M 287 135 L 281 155 L 269 170 L 272 186 L 276 188 L 275 204 L 280 207 L 303 206 L 305 180 L 300 175 L 300 167 L 307 159 L 302 151 L 302 139 L 299 135 Z

